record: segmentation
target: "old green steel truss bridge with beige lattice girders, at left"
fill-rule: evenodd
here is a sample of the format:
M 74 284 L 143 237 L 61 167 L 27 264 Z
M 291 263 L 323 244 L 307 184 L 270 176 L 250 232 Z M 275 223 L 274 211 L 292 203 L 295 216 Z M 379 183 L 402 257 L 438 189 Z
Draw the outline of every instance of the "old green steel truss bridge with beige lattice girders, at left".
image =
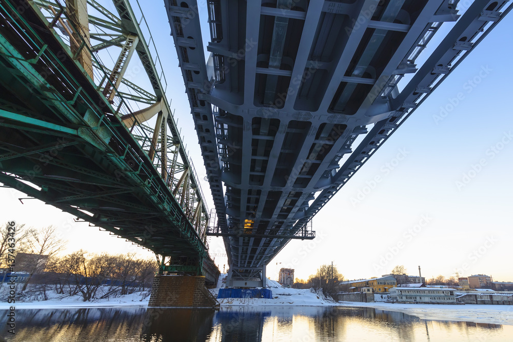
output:
M 0 182 L 153 251 L 160 274 L 214 285 L 208 208 L 161 60 L 141 8 L 114 7 L 0 4 Z

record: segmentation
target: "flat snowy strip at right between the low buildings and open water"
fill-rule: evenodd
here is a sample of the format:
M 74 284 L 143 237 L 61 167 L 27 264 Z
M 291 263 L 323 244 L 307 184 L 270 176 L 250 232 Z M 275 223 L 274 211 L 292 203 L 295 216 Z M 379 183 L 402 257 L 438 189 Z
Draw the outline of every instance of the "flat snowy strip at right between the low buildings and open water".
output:
M 509 305 L 394 304 L 356 301 L 343 301 L 339 302 L 339 305 L 399 311 L 421 319 L 513 325 L 513 306 Z

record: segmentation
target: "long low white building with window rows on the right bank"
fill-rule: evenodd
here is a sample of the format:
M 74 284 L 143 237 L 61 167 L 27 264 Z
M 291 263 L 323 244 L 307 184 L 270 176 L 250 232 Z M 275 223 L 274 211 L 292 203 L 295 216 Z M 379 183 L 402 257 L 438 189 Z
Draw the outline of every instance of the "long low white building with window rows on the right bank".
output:
M 410 303 L 456 303 L 455 289 L 432 287 L 394 287 L 390 289 L 388 298 L 392 301 Z

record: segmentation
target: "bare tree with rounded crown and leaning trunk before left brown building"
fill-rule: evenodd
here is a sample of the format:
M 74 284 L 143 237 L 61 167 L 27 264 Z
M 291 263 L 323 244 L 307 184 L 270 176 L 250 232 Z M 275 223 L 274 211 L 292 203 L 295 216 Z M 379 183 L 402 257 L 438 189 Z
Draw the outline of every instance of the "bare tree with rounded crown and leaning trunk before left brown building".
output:
M 57 228 L 48 226 L 41 230 L 32 230 L 27 239 L 27 250 L 36 257 L 29 267 L 29 276 L 23 285 L 22 292 L 27 289 L 34 272 L 41 268 L 41 261 L 48 259 L 66 247 L 67 241 L 57 236 Z

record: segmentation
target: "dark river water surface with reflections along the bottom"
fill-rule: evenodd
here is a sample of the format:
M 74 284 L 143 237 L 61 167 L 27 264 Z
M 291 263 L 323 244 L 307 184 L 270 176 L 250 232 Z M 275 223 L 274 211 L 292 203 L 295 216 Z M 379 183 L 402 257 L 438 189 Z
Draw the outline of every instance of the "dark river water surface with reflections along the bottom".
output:
M 89 308 L 16 311 L 8 341 L 513 341 L 513 326 L 424 320 L 349 307 Z M 0 340 L 2 340 L 0 338 Z

